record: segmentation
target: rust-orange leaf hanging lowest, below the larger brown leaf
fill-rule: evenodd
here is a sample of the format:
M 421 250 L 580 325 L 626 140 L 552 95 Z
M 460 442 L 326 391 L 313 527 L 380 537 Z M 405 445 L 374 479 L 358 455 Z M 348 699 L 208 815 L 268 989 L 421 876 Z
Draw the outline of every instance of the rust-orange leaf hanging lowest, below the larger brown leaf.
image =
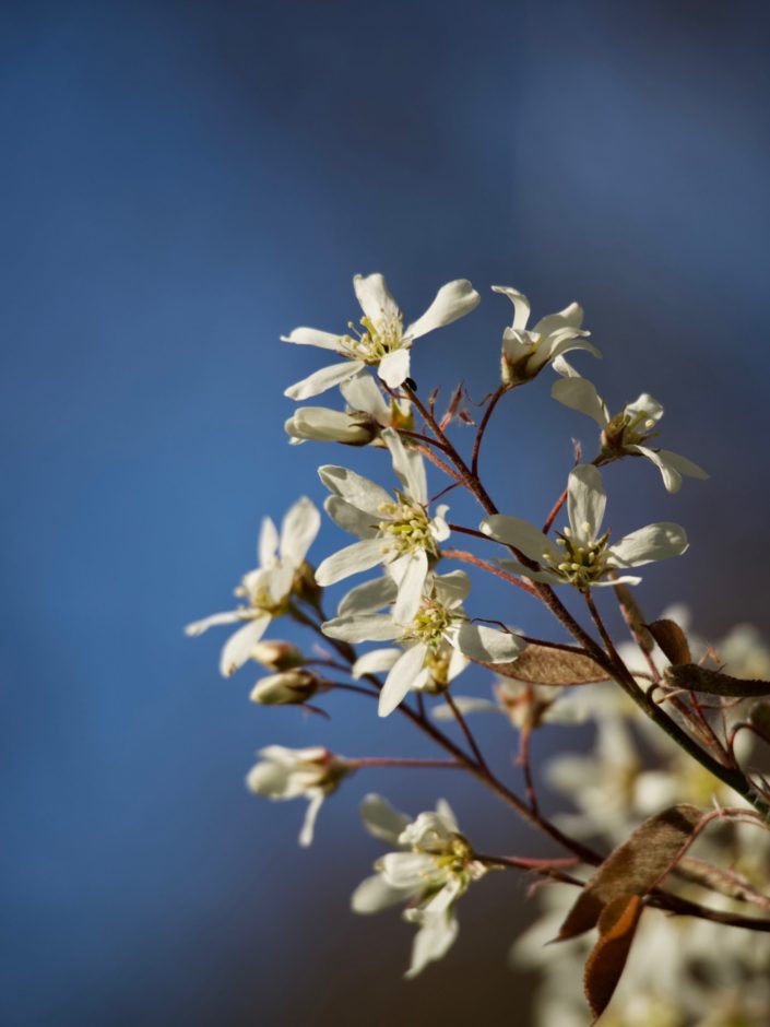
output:
M 618 895 L 600 918 L 599 941 L 583 973 L 583 988 L 594 1023 L 606 1010 L 620 980 L 643 908 L 638 895 Z

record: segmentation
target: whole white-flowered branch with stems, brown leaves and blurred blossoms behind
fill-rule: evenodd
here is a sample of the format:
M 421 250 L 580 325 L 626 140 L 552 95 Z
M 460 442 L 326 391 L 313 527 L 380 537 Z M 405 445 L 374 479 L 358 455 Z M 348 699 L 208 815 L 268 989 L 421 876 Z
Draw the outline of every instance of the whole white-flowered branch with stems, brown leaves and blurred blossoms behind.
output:
M 700 1023 L 697 988 L 677 991 L 679 978 L 689 984 L 699 975 L 713 982 L 713 1008 L 725 1011 L 723 1019 L 708 1023 L 741 1020 L 758 1027 L 770 1015 L 770 994 L 767 981 L 761 983 L 755 972 L 750 946 L 733 947 L 718 965 L 712 940 L 725 924 L 751 929 L 742 902 L 762 909 L 759 930 L 770 924 L 770 899 L 762 890 L 770 861 L 770 786 L 746 763 L 751 739 L 770 741 L 770 683 L 762 680 L 770 675 L 770 649 L 745 627 L 713 647 L 691 631 L 680 611 L 666 611 L 656 621 L 644 616 L 636 590 L 627 588 L 641 581 L 636 568 L 684 555 L 687 533 L 667 520 L 616 533 L 606 519 L 602 476 L 609 463 L 643 457 L 674 493 L 683 477 L 706 479 L 706 471 L 658 448 L 663 408 L 649 393 L 612 413 L 595 387 L 567 362 L 571 352 L 601 355 L 588 341 L 577 303 L 528 327 L 526 297 L 509 286 L 493 286 L 511 302 L 513 321 L 502 329 L 499 377 L 481 401 L 476 427 L 470 408 L 463 406 L 473 405 L 464 386 L 453 391 L 441 413 L 438 390 L 424 399 L 411 377 L 415 340 L 464 318 L 479 303 L 471 283 L 458 279 L 443 285 L 425 314 L 406 324 L 381 274 L 356 275 L 353 285 L 363 311 L 357 324 L 348 322 L 341 333 L 296 328 L 283 340 L 339 357 L 291 386 L 285 396 L 307 400 L 339 388 L 343 401 L 343 409 L 295 409 L 285 422 L 289 441 L 369 448 L 371 461 L 384 461 L 381 476 L 364 476 L 345 465 L 347 459 L 318 469 L 328 492 L 323 507 L 330 532 L 342 529 L 354 541 L 313 558 L 313 568 L 308 552 L 321 519 L 311 500 L 294 504 L 280 531 L 265 518 L 258 566 L 236 589 L 239 604 L 186 630 L 200 635 L 214 625 L 238 625 L 222 650 L 220 669 L 229 677 L 248 662 L 262 668 L 263 676 L 250 692 L 260 707 L 296 707 L 328 718 L 330 712 L 318 704 L 330 695 L 374 701 L 380 717 L 405 717 L 438 746 L 441 758 L 343 757 L 323 745 L 269 745 L 259 752 L 248 788 L 274 801 L 305 799 L 299 841 L 308 846 L 321 804 L 353 774 L 369 767 L 465 770 L 559 842 L 566 860 L 479 855 L 445 800 L 412 819 L 384 799 L 367 795 L 365 827 L 390 851 L 376 862 L 374 876 L 356 888 L 352 905 L 359 913 L 404 907 L 404 919 L 417 928 L 407 978 L 454 943 L 457 906 L 472 884 L 493 869 L 528 870 L 552 884 L 582 888 L 577 902 L 568 887 L 545 889 L 559 899 L 548 899 L 552 911 L 538 930 L 547 924 L 552 936 L 558 930 L 557 940 L 564 941 L 597 928 L 585 967 L 594 1016 L 609 1003 L 638 933 L 631 958 L 638 976 L 626 975 L 631 998 L 617 1023 Z M 483 359 L 483 347 L 477 352 Z M 489 356 L 494 366 L 494 351 Z M 554 399 L 593 418 L 600 435 L 593 459 L 577 462 L 561 497 L 544 506 L 550 514 L 541 528 L 519 516 L 510 489 L 499 508 L 493 499 L 497 489 L 482 480 L 478 468 L 498 403 L 548 367 L 556 374 Z M 475 430 L 464 455 L 454 433 L 469 427 Z M 352 451 L 345 450 L 348 456 Z M 516 458 L 512 447 L 510 456 Z M 438 472 L 446 479 L 441 487 L 433 481 Z M 481 523 L 478 515 L 470 524 L 449 521 L 449 506 L 439 500 L 451 489 L 464 491 L 481 506 Z M 454 498 L 451 503 L 453 510 L 463 509 Z M 369 571 L 374 575 L 362 580 Z M 511 627 L 513 607 L 508 603 L 504 616 L 484 609 L 488 593 L 475 590 L 483 574 L 512 588 L 511 600 L 521 602 L 513 613 L 517 623 L 526 621 L 528 603 L 542 601 L 560 622 L 558 638 L 533 638 L 524 628 Z M 354 577 L 352 588 L 334 594 L 336 586 Z M 594 595 L 597 588 L 605 591 Z M 600 597 L 602 603 L 618 604 L 631 641 L 612 638 Z M 264 638 L 281 617 L 291 631 L 308 630 L 312 644 Z M 387 645 L 378 645 L 382 642 Z M 473 664 L 496 674 L 493 698 L 454 693 L 457 678 Z M 375 706 L 370 710 L 374 715 Z M 475 722 L 466 720 L 479 711 L 504 715 L 517 732 L 516 775 L 510 767 L 500 775 L 493 769 L 474 733 Z M 319 717 L 310 720 L 318 723 Z M 577 722 L 595 725 L 591 751 L 562 752 L 544 775 L 535 772 L 532 733 Z M 537 788 L 543 777 L 569 796 L 571 812 L 549 817 L 542 812 Z M 706 826 L 714 818 L 724 822 L 722 830 L 709 834 Z M 751 851 L 742 834 L 749 829 L 760 838 Z M 593 848 L 600 842 L 600 850 Z M 691 845 L 697 845 L 697 858 L 689 854 Z M 572 908 L 559 930 L 553 909 L 564 914 L 568 900 Z M 653 907 L 678 913 L 677 924 L 686 928 L 679 931 L 668 920 L 655 919 Z M 750 931 L 746 936 L 754 942 Z M 587 949 L 572 947 L 566 956 L 548 949 L 545 959 L 533 955 L 532 937 L 517 943 L 514 958 L 545 968 L 548 991 L 536 1014 L 540 1022 L 565 1027 L 582 1023 L 572 993 L 560 985 L 559 968 L 569 966 L 576 953 L 584 957 Z M 665 983 L 653 987 L 649 967 L 652 954 L 662 952 L 668 954 L 660 979 Z M 748 982 L 745 992 L 734 985 L 741 973 Z M 757 1014 L 758 1008 L 763 1013 Z

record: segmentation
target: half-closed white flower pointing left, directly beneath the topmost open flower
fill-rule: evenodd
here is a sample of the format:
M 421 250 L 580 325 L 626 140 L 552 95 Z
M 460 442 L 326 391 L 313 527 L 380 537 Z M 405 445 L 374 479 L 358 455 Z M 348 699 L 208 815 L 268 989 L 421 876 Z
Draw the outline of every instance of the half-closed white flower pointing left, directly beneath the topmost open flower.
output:
M 408 400 L 386 402 L 369 375 L 358 375 L 340 386 L 347 410 L 327 406 L 300 406 L 285 423 L 293 446 L 308 440 L 366 446 L 379 440 L 382 428 L 411 428 L 413 417 Z

